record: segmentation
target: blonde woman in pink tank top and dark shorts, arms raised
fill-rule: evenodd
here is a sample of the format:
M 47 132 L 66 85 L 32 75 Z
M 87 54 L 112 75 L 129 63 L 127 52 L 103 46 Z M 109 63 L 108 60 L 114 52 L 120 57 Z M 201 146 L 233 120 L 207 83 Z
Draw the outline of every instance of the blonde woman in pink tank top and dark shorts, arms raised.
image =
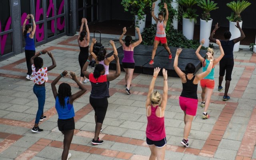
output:
M 148 96 L 146 100 L 146 111 L 148 125 L 146 128 L 146 142 L 150 148 L 151 154 L 149 160 L 164 160 L 166 150 L 166 134 L 164 128 L 164 110 L 167 103 L 168 84 L 167 70 L 163 68 L 164 89 L 163 96 L 154 90 L 156 77 L 160 72 L 160 68 L 154 69 L 152 81 L 149 86 Z

